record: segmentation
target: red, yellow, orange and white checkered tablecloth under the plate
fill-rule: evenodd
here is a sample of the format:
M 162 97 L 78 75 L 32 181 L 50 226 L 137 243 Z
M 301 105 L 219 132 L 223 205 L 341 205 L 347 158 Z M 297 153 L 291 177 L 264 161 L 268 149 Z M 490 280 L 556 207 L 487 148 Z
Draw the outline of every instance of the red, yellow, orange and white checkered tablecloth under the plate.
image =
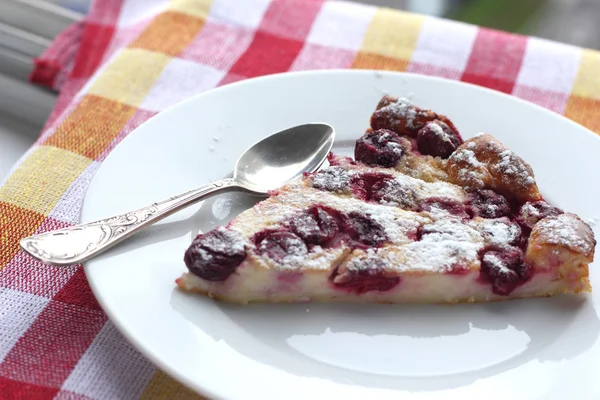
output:
M 321 68 L 459 79 L 600 133 L 595 51 L 339 1 L 97 0 L 38 60 L 32 79 L 61 95 L 0 188 L 0 398 L 197 398 L 123 339 L 81 266 L 41 265 L 19 239 L 77 223 L 106 155 L 166 107 L 241 79 Z

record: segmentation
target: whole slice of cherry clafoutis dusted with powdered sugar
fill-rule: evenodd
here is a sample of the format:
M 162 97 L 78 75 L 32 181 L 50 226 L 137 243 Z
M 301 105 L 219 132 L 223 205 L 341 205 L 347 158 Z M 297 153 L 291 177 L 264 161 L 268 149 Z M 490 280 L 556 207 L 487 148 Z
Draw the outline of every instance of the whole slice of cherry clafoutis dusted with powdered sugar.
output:
M 596 241 L 491 135 L 385 97 L 355 160 L 198 235 L 178 286 L 251 302 L 486 302 L 591 290 Z

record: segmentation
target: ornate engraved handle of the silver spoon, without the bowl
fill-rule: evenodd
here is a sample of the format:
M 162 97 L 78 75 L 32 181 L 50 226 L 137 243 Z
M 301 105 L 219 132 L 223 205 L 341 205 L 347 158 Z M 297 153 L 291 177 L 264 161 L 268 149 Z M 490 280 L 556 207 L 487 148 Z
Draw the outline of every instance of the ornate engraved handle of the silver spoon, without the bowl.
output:
M 236 189 L 240 186 L 233 179 L 222 179 L 121 215 L 24 238 L 21 247 L 46 264 L 84 262 L 184 207 Z

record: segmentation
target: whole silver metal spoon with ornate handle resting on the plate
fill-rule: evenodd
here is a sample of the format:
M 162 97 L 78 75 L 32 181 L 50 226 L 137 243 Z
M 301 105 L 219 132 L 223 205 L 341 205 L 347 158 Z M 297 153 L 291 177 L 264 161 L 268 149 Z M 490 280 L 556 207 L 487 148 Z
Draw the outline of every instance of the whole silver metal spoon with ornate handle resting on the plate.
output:
M 142 228 L 209 196 L 234 190 L 265 196 L 304 172 L 316 171 L 325 161 L 334 138 L 331 126 L 317 123 L 274 133 L 242 154 L 233 178 L 125 214 L 30 236 L 21 240 L 21 247 L 46 264 L 84 262 Z

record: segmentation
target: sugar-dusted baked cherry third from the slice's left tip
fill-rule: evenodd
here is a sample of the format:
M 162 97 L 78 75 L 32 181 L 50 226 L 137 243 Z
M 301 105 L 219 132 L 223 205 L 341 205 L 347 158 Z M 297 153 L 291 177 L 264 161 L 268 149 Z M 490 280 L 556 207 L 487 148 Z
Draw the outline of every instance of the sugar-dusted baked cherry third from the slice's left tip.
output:
M 338 234 L 340 219 L 335 210 L 313 206 L 295 216 L 290 227 L 307 245 L 323 245 Z

